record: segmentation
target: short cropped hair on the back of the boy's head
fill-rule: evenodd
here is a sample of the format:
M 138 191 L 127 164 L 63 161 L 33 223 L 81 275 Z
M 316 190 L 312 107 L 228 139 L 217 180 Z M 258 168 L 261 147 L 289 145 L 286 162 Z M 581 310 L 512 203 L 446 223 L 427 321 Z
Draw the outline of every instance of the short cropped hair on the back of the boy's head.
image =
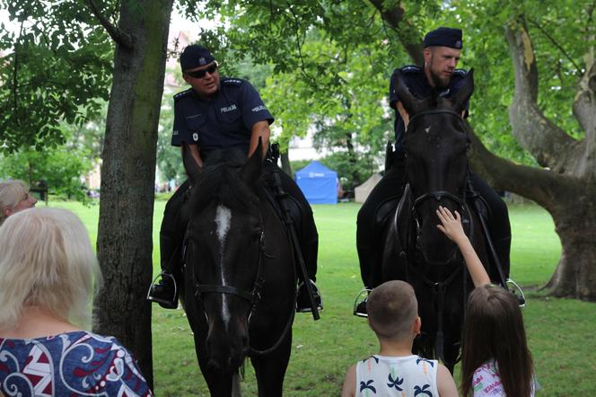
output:
M 405 281 L 387 281 L 368 296 L 366 312 L 371 328 L 379 338 L 404 339 L 418 315 L 414 288 Z

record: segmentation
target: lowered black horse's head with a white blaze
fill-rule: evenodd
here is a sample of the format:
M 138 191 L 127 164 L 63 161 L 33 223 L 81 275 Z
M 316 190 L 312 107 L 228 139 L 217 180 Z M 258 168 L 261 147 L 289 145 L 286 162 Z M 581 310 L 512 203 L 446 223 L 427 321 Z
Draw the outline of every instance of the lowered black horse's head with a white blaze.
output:
M 238 161 L 239 154 L 223 151 L 199 168 L 183 150 L 193 191 L 185 208 L 185 274 L 192 278 L 197 310 L 205 313 L 210 365 L 229 372 L 249 351 L 248 324 L 259 300 L 264 254 L 256 188 L 260 153 L 259 142 L 246 163 Z

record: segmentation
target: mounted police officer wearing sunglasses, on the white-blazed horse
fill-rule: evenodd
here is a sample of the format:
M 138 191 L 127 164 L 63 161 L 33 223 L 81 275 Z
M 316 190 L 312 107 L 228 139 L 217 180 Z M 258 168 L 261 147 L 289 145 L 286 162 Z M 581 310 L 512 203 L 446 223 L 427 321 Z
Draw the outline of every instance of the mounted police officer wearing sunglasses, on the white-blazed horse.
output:
M 269 125 L 273 116 L 249 82 L 238 78 L 220 78 L 218 64 L 211 52 L 190 45 L 180 55 L 182 75 L 191 88 L 174 95 L 174 128 L 171 145 L 188 146 L 199 166 L 215 149 L 239 148 L 249 156 L 263 144 L 265 170 L 277 173 L 281 188 L 299 207 L 302 219 L 297 234 L 315 304 L 320 308 L 320 294 L 313 280 L 317 272 L 319 236 L 312 210 L 295 182 L 281 172 L 268 150 Z M 181 245 L 186 225 L 180 219 L 180 209 L 189 189 L 185 181 L 168 201 L 163 212 L 160 231 L 161 280 L 149 289 L 147 298 L 165 308 L 178 305 L 175 274 L 180 273 Z M 299 272 L 300 274 L 300 272 Z M 311 311 L 306 285 L 301 282 L 296 310 Z

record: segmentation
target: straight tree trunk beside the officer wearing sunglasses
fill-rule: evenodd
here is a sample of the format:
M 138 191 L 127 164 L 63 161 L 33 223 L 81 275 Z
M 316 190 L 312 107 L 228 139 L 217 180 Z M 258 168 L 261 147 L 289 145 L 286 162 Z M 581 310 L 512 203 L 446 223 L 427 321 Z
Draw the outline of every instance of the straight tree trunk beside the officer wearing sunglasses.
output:
M 129 348 L 153 388 L 151 304 L 157 126 L 173 0 L 125 1 L 106 121 L 97 239 L 103 286 L 94 331 Z

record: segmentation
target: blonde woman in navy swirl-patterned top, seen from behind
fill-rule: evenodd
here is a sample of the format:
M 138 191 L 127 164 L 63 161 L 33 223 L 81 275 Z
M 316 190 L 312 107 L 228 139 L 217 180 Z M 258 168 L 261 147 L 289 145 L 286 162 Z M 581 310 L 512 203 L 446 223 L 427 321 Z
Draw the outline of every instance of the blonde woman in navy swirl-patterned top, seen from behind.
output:
M 85 331 L 101 273 L 65 209 L 31 208 L 0 227 L 0 393 L 151 396 L 118 340 Z

